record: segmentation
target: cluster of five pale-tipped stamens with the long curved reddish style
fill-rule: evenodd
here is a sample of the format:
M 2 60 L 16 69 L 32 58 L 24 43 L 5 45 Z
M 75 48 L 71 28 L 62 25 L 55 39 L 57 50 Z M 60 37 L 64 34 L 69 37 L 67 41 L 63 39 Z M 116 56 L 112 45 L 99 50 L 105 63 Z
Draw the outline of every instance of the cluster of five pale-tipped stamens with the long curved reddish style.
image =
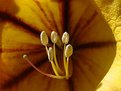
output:
M 67 32 L 64 32 L 62 35 L 62 44 L 63 44 L 63 67 L 60 67 L 58 60 L 57 60 L 57 55 L 56 55 L 56 45 L 60 43 L 60 39 L 58 34 L 55 31 L 51 32 L 51 42 L 53 43 L 53 46 L 48 47 L 48 36 L 45 31 L 42 31 L 40 34 L 40 40 L 43 46 L 45 46 L 46 53 L 48 56 L 48 60 L 52 66 L 54 74 L 48 74 L 40 69 L 38 69 L 34 64 L 29 60 L 28 56 L 26 54 L 23 55 L 23 58 L 34 68 L 36 69 L 39 73 L 52 77 L 52 78 L 57 78 L 57 79 L 69 79 L 71 77 L 71 73 L 69 71 L 69 58 L 73 54 L 73 47 L 71 44 L 68 44 L 69 42 L 69 34 Z M 61 55 L 60 55 L 61 56 Z M 63 68 L 63 69 L 62 69 Z M 71 69 L 70 69 L 71 70 Z M 72 71 L 72 70 L 71 70 Z

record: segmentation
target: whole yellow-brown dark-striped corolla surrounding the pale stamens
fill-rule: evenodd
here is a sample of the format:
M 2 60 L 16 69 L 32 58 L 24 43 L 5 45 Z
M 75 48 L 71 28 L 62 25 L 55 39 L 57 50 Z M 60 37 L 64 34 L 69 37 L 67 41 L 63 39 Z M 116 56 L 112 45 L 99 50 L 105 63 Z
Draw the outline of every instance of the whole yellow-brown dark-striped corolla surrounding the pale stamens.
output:
M 96 90 L 114 60 L 116 42 L 94 1 L 10 0 L 8 4 L 0 0 L 0 4 L 0 90 Z M 59 38 L 64 32 L 69 33 L 69 43 L 73 46 L 69 60 L 73 71 L 69 79 L 40 74 L 23 59 L 27 54 L 40 70 L 54 74 L 40 42 L 41 31 L 45 31 L 49 39 L 52 31 Z M 57 46 L 57 56 L 63 65 L 62 46 Z

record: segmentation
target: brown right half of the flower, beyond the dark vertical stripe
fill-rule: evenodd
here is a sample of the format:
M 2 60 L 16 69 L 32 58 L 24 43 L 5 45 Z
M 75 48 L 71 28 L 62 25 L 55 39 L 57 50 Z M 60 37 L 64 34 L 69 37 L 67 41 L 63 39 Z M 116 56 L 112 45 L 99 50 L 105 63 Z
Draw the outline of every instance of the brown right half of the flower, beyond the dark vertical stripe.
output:
M 75 91 L 95 91 L 116 54 L 112 30 L 94 2 L 71 0 L 72 82 Z

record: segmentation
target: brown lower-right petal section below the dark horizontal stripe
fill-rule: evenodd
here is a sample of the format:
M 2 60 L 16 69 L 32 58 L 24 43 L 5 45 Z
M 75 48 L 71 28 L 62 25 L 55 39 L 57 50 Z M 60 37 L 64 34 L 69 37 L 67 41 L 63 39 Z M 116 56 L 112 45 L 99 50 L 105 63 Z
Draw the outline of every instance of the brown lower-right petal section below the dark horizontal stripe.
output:
M 89 44 L 88 44 L 89 45 Z M 97 84 L 110 68 L 115 57 L 115 45 L 80 49 L 72 56 L 72 82 L 75 91 L 95 91 Z M 86 45 L 85 45 L 86 46 Z

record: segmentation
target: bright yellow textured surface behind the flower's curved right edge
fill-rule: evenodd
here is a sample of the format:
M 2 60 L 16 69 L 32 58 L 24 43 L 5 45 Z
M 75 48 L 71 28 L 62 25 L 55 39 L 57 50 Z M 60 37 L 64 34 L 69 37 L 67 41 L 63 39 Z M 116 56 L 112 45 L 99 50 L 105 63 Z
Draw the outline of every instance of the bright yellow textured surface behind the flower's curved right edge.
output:
M 121 1 L 120 0 L 95 0 L 102 14 L 111 27 L 117 41 L 117 51 L 114 63 L 105 76 L 102 85 L 97 91 L 121 91 Z

